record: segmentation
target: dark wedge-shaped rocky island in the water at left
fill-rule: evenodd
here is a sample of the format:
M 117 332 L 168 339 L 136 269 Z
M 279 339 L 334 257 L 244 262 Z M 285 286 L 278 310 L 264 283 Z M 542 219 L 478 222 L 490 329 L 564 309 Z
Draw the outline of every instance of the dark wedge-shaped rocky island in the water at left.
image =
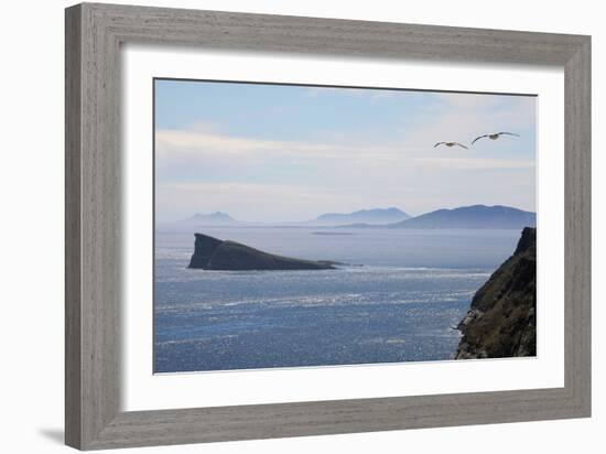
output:
M 336 262 L 274 256 L 235 241 L 195 234 L 195 249 L 188 268 L 221 271 L 334 270 Z

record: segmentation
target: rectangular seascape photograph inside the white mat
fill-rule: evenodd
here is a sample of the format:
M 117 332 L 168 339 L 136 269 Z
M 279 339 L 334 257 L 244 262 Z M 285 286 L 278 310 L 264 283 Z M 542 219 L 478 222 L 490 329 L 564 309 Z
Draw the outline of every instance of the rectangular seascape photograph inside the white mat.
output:
M 534 96 L 153 84 L 154 372 L 537 355 Z

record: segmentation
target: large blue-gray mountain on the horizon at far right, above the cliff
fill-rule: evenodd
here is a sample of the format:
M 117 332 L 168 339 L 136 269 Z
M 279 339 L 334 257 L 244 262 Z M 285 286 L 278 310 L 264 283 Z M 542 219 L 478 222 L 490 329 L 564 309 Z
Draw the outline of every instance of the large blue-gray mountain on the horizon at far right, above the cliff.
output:
M 389 228 L 504 228 L 534 227 L 537 214 L 509 206 L 473 205 L 453 209 L 437 209 L 400 223 Z

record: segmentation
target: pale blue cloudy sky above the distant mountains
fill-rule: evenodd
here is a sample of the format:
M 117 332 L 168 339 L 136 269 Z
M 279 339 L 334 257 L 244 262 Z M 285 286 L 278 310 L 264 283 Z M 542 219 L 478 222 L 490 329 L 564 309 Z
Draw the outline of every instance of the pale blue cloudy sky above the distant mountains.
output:
M 156 79 L 154 140 L 159 221 L 535 209 L 531 96 Z

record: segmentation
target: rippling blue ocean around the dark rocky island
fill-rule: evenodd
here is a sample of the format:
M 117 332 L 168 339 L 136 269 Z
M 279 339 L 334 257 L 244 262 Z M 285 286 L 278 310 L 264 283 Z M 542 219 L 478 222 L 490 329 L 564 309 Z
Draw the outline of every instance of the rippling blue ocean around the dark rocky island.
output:
M 345 266 L 187 269 L 194 231 L 155 233 L 154 371 L 452 359 L 474 293 L 518 230 L 221 227 L 197 231 Z M 333 235 L 333 234 L 338 235 Z

